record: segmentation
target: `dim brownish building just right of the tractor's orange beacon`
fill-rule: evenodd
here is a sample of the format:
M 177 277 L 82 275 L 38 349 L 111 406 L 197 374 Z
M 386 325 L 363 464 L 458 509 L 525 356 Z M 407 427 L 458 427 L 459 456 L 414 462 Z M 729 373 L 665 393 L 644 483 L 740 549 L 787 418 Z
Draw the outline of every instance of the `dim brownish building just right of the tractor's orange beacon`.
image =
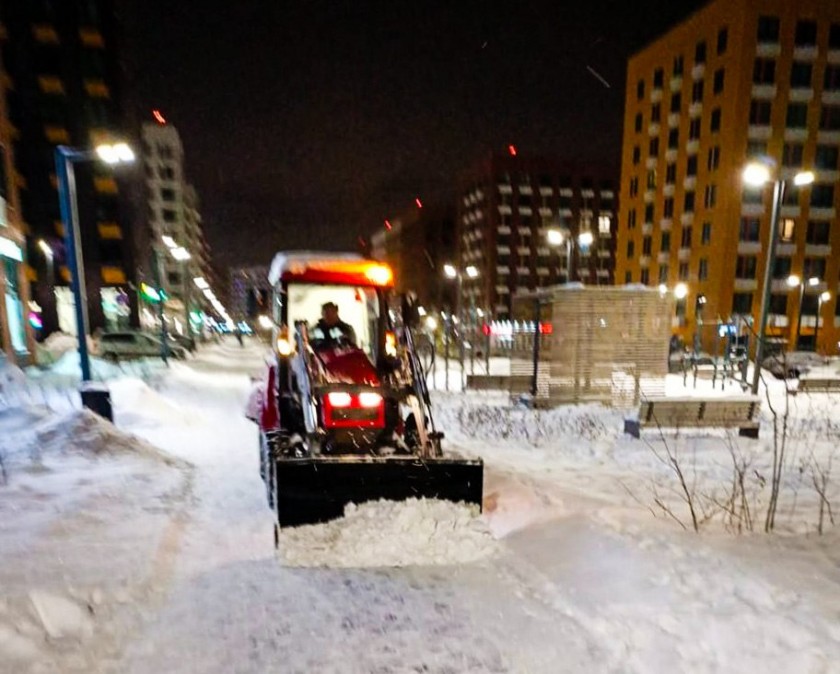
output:
M 443 266 L 456 262 L 455 208 L 452 204 L 425 204 L 394 218 L 370 239 L 371 255 L 394 269 L 397 292 L 413 292 L 429 309 L 452 310 L 454 283 Z

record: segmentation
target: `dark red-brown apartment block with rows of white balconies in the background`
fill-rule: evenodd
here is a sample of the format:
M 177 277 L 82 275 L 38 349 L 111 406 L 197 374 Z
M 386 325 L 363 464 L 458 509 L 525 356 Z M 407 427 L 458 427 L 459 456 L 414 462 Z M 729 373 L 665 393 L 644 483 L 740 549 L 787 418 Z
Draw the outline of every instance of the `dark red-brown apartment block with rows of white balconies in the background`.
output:
M 464 301 L 507 319 L 517 292 L 611 285 L 616 207 L 607 170 L 513 154 L 479 162 L 459 184 L 458 264 L 462 273 L 477 271 L 462 276 Z M 551 239 L 552 229 L 562 242 Z

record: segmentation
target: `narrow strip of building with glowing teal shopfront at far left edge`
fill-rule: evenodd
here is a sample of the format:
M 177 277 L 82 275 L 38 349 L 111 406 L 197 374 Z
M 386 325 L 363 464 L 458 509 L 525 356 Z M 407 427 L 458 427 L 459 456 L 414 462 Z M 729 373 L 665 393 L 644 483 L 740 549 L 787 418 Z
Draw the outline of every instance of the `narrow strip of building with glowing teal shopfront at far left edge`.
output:
M 6 115 L 6 77 L 0 57 L 0 354 L 29 363 L 34 353 L 29 288 L 25 273 L 26 239 L 12 155 L 12 125 Z

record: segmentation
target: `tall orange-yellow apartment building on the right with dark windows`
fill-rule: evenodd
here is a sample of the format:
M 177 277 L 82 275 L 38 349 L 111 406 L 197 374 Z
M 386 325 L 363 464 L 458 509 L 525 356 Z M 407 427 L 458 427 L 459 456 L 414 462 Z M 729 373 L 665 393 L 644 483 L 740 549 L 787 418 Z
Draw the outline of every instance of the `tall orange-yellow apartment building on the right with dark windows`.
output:
M 628 63 L 617 282 L 684 284 L 675 333 L 710 349 L 719 322 L 757 325 L 775 245 L 769 333 L 836 353 L 839 151 L 840 3 L 712 2 Z M 754 160 L 787 188 L 775 242 Z

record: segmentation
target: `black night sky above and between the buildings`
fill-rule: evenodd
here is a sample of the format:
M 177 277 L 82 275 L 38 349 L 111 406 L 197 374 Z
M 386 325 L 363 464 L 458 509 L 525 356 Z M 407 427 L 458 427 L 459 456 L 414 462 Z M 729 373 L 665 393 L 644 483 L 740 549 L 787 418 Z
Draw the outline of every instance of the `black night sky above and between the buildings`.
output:
M 180 131 L 222 269 L 352 249 L 511 143 L 617 175 L 627 57 L 704 4 L 127 2 L 137 113 Z

